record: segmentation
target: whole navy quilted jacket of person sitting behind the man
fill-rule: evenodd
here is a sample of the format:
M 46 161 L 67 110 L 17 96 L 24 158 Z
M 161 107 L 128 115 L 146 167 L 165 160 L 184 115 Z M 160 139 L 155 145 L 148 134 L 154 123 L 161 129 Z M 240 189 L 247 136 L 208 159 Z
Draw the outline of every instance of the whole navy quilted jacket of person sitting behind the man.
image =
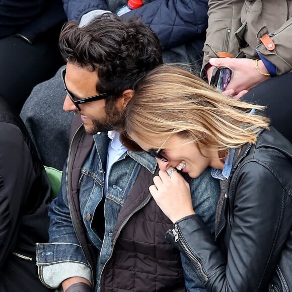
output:
M 115 10 L 127 0 L 63 0 L 68 20 L 80 20 L 92 10 Z M 157 34 L 164 49 L 205 36 L 208 0 L 144 0 L 140 8 L 121 17 L 139 17 Z

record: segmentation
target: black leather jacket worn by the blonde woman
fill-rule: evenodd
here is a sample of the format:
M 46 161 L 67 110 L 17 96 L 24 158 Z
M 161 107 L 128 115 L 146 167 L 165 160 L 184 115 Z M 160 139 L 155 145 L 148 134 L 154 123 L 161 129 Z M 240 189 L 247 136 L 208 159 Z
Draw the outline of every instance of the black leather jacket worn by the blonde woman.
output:
M 215 242 L 199 215 L 166 237 L 208 291 L 292 290 L 292 145 L 263 130 L 234 159 Z

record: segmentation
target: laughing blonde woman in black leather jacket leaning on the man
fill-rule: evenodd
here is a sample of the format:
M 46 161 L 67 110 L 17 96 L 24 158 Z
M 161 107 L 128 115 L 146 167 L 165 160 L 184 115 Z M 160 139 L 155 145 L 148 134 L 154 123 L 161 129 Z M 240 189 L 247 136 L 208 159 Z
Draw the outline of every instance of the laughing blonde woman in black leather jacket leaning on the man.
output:
M 140 80 L 126 107 L 122 139 L 157 158 L 150 192 L 174 223 L 166 237 L 208 291 L 292 288 L 292 145 L 262 110 L 170 65 Z M 214 237 L 179 173 L 207 167 L 221 183 Z

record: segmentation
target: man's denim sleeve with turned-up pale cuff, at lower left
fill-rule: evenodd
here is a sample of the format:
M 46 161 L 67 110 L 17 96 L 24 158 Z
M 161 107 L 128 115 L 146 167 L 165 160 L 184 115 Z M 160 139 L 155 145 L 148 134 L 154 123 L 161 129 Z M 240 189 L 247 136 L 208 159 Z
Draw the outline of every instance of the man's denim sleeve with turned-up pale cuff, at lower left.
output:
M 44 285 L 60 286 L 69 277 L 84 277 L 91 282 L 91 270 L 72 226 L 63 170 L 61 190 L 49 207 L 49 243 L 36 244 L 38 273 Z

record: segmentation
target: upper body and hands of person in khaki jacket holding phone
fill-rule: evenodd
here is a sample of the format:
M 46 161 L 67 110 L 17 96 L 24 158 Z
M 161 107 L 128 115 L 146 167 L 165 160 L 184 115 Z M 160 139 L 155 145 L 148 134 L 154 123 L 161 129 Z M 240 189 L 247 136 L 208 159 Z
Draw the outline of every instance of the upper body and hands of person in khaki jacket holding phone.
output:
M 291 9 L 290 0 L 210 0 L 202 71 L 208 81 L 214 67 L 229 67 L 233 78 L 226 94 L 239 98 L 290 72 Z M 275 11 L 281 17 L 274 17 Z

